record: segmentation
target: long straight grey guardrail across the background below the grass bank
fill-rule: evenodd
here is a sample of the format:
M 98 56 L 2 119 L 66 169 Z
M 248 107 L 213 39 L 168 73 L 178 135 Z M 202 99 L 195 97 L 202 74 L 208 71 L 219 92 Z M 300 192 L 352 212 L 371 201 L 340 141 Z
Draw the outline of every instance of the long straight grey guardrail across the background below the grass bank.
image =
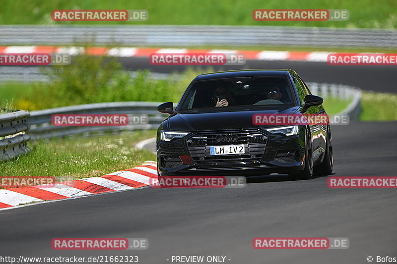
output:
M 397 30 L 214 25 L 2 25 L 0 45 L 397 47 Z

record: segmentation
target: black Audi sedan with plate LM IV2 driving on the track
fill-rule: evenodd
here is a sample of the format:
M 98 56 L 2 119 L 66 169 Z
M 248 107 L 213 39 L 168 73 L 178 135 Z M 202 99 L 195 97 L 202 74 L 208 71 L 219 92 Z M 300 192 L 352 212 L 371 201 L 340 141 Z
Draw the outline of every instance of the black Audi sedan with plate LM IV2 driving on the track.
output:
M 250 176 L 286 174 L 310 179 L 332 172 L 329 124 L 274 125 L 253 116 L 326 114 L 289 69 L 235 70 L 197 76 L 157 130 L 161 176 Z

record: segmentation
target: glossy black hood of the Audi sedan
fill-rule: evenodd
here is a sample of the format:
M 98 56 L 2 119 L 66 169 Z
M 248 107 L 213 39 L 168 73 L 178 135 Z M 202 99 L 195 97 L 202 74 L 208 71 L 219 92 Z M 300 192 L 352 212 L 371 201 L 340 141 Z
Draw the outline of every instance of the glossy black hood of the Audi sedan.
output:
M 174 131 L 202 131 L 261 128 L 254 125 L 254 114 L 296 113 L 299 107 L 281 109 L 174 113 L 163 122 L 163 129 Z

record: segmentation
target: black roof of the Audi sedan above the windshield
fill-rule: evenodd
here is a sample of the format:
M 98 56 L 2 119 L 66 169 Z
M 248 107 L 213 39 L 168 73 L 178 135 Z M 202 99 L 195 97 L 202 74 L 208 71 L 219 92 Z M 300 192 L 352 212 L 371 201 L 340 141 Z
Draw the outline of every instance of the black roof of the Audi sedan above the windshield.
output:
M 239 77 L 286 77 L 289 74 L 296 74 L 291 69 L 251 69 L 251 70 L 232 70 L 203 73 L 196 77 L 195 81 L 212 79 L 239 78 Z

